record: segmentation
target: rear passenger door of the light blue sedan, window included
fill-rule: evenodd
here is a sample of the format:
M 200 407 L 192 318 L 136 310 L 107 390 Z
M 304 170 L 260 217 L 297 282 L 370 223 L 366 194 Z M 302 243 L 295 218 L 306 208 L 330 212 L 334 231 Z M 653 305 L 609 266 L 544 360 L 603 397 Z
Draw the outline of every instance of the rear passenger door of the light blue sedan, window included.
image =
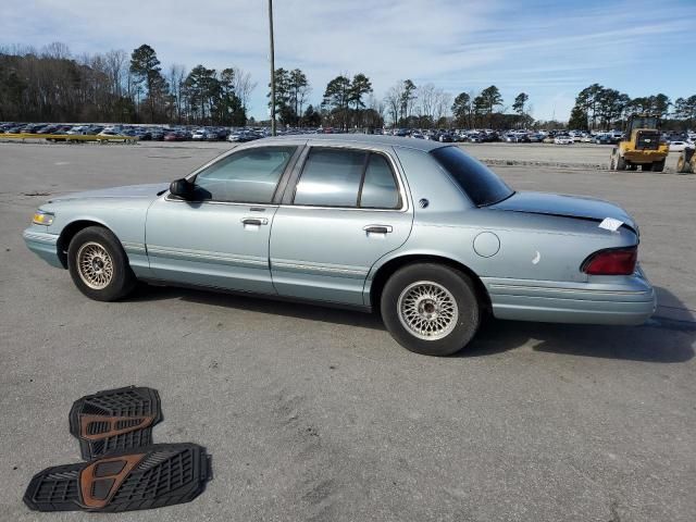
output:
M 371 266 L 407 240 L 413 222 L 397 163 L 383 150 L 309 147 L 271 232 L 282 296 L 363 306 Z

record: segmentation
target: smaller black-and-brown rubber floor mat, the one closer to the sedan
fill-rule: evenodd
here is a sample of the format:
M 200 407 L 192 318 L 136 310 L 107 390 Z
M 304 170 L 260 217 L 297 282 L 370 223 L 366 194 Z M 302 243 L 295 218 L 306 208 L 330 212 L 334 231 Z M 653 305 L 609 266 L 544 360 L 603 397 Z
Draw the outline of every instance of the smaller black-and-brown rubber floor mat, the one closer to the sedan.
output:
M 157 389 L 129 386 L 78 399 L 70 410 L 70 433 L 79 439 L 83 459 L 152 444 L 152 426 L 162 420 Z

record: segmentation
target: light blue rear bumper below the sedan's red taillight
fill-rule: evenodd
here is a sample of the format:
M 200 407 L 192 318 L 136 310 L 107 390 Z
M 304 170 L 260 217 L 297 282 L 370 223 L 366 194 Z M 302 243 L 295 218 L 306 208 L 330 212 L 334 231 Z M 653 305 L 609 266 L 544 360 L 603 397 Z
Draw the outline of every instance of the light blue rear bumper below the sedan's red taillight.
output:
M 630 277 L 588 283 L 482 278 L 497 319 L 549 323 L 637 325 L 655 313 L 657 298 L 639 269 Z

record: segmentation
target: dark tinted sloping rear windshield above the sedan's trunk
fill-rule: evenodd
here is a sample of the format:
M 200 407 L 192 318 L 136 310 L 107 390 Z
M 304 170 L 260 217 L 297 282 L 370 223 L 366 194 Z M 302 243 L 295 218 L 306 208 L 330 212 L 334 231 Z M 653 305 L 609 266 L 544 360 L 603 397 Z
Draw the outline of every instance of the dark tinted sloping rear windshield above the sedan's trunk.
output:
M 459 147 L 442 147 L 431 152 L 476 207 L 494 204 L 514 194 L 502 179 Z

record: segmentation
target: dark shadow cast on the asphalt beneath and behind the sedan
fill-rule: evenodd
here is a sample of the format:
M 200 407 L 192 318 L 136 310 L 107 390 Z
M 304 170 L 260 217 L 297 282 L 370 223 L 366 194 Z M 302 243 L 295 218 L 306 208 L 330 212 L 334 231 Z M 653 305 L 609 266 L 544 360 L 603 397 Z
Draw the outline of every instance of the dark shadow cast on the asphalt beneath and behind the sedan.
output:
M 661 298 L 669 299 L 670 308 L 680 310 L 680 320 L 661 315 L 659 308 L 656 315 L 641 326 L 531 323 L 486 318 L 469 347 L 455 357 L 485 357 L 514 350 L 531 343 L 534 351 L 569 356 L 661 363 L 688 361 L 694 357 L 696 319 L 669 290 L 664 288 L 657 288 L 657 290 Z M 190 288 L 142 285 L 127 300 L 170 299 L 385 331 L 376 313 Z

